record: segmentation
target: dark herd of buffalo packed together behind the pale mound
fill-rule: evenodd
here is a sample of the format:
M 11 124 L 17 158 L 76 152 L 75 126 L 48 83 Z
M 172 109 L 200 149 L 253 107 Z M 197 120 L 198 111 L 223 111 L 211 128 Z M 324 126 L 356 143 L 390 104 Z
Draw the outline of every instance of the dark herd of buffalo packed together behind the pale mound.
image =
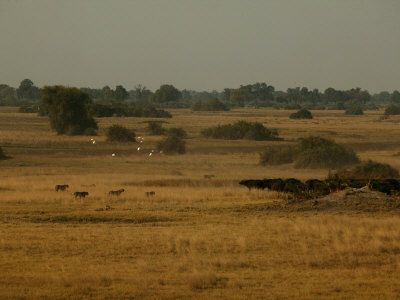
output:
M 296 199 L 311 199 L 328 195 L 332 192 L 346 188 L 362 188 L 368 186 L 371 190 L 388 195 L 400 193 L 400 181 L 398 179 L 349 179 L 339 176 L 330 176 L 325 180 L 310 179 L 302 182 L 295 178 L 242 180 L 239 184 L 251 189 L 285 192 L 292 194 Z

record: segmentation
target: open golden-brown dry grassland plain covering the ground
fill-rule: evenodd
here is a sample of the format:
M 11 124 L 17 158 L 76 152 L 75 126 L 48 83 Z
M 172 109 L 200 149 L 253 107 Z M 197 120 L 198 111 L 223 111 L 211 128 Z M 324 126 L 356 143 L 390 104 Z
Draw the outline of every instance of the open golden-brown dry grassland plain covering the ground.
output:
M 101 118 L 98 136 L 57 136 L 46 117 L 0 108 L 0 146 L 12 157 L 0 162 L 0 299 L 400 299 L 399 211 L 290 209 L 285 195 L 238 185 L 325 178 L 328 170 L 258 164 L 265 147 L 310 134 L 400 169 L 400 119 L 171 113 L 163 126 L 185 128 L 185 155 L 149 156 L 162 137 L 147 134 L 148 119 Z M 277 128 L 284 140 L 200 134 L 238 120 Z M 112 124 L 144 142 L 107 142 Z

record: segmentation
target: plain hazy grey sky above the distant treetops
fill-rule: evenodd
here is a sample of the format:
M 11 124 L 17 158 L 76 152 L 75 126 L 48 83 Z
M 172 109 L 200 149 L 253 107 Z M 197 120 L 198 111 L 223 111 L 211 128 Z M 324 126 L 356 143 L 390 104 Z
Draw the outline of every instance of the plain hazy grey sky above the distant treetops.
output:
M 0 83 L 400 89 L 400 1 L 0 0 Z

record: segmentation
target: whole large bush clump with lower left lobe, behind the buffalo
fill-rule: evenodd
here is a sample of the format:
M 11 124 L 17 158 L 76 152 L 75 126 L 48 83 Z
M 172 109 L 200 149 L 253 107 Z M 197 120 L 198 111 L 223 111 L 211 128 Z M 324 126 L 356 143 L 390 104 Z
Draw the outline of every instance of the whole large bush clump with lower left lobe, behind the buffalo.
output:
M 295 168 L 338 169 L 360 162 L 357 154 L 332 140 L 317 136 L 302 138 L 296 146 L 267 149 L 260 154 L 261 165 L 279 165 L 295 162 Z

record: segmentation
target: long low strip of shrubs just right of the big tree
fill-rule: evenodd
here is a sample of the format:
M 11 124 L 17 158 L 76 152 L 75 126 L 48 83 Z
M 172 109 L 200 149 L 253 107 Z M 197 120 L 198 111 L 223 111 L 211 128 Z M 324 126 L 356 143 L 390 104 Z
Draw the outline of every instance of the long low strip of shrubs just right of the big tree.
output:
M 95 117 L 145 117 L 145 118 L 172 118 L 172 115 L 154 106 L 135 106 L 121 103 L 92 104 L 89 107 L 90 113 Z

